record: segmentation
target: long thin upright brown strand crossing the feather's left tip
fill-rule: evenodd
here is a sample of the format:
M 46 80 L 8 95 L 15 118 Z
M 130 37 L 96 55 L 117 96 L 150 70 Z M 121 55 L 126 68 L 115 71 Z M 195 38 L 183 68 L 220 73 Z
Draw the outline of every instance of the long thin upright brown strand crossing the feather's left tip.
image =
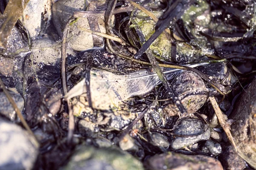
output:
M 67 79 L 66 79 L 67 35 L 69 32 L 70 23 L 72 22 L 73 18 L 74 17 L 71 17 L 70 20 L 67 22 L 63 31 L 62 42 L 61 42 L 61 77 L 62 77 L 62 88 L 63 88 L 64 95 L 67 94 Z M 75 118 L 74 118 L 71 103 L 69 100 L 67 100 L 67 106 L 69 111 L 67 143 L 71 144 L 73 139 L 74 129 L 75 129 Z

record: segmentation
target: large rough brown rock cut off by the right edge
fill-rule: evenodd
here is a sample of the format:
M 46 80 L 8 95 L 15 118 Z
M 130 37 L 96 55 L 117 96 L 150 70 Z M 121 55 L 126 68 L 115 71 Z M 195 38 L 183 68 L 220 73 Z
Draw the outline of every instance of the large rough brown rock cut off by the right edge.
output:
M 231 133 L 239 156 L 256 168 L 256 79 L 243 91 L 230 116 Z

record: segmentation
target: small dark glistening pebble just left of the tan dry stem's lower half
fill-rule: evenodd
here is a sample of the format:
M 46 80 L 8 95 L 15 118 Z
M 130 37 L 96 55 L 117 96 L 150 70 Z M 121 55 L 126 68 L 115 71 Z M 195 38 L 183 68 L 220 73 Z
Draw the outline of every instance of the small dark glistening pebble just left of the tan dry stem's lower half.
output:
M 219 154 L 221 154 L 222 148 L 219 143 L 213 142 L 212 140 L 207 140 L 204 146 L 202 147 L 202 151 L 204 153 L 209 153 L 214 156 L 218 156 Z

